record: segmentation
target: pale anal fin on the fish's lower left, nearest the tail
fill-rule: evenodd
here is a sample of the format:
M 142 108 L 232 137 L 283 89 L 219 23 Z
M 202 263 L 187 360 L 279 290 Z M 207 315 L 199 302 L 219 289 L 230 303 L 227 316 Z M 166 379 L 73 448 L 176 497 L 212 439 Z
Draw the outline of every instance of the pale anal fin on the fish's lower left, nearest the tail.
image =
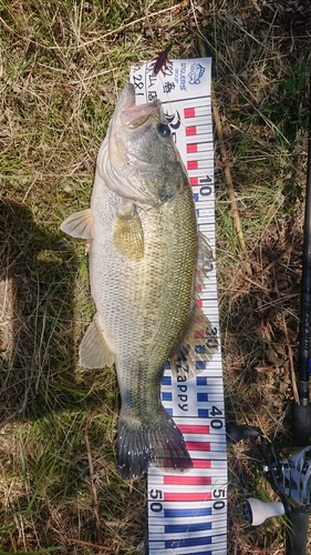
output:
M 95 314 L 80 345 L 80 364 L 85 369 L 103 369 L 113 363 L 114 353 L 107 345 Z

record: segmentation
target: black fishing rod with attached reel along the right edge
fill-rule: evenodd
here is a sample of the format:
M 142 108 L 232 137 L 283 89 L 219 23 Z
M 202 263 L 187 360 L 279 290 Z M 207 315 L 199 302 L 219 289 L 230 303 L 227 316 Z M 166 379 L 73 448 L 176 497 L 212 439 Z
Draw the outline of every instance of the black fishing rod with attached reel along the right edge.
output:
M 227 424 L 229 441 L 260 437 L 265 458 L 263 472 L 279 502 L 262 503 L 249 498 L 243 504 L 243 516 L 253 525 L 270 516 L 286 515 L 288 518 L 287 555 L 305 555 L 309 515 L 311 513 L 311 403 L 309 376 L 311 335 L 311 87 L 309 108 L 308 169 L 303 228 L 302 279 L 300 296 L 300 329 L 298 356 L 299 400 L 292 411 L 292 446 L 277 453 L 260 431 L 252 426 Z

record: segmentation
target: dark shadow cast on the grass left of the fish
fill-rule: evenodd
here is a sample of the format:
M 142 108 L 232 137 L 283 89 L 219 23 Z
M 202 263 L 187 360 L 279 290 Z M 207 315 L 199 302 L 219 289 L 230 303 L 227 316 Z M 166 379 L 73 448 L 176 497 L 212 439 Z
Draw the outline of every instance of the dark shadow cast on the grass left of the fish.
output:
M 0 202 L 1 425 L 70 402 L 76 266 L 27 206 Z

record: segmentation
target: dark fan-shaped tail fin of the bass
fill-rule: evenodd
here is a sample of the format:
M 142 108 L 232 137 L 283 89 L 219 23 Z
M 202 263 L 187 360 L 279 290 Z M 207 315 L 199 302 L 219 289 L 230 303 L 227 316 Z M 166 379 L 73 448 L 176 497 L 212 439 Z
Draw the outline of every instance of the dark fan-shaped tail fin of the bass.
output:
M 182 432 L 163 410 L 162 417 L 146 423 L 120 416 L 117 465 L 122 480 L 133 481 L 143 476 L 148 464 L 163 468 L 187 470 L 193 467 Z

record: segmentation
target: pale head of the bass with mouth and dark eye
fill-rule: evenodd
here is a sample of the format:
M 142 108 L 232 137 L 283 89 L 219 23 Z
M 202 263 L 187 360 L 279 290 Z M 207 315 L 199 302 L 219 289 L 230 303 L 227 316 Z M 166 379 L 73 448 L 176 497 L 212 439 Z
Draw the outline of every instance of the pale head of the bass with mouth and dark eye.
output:
M 141 206 L 162 204 L 176 194 L 185 169 L 159 100 L 136 105 L 134 85 L 125 87 L 99 153 L 97 171 L 110 189 Z

